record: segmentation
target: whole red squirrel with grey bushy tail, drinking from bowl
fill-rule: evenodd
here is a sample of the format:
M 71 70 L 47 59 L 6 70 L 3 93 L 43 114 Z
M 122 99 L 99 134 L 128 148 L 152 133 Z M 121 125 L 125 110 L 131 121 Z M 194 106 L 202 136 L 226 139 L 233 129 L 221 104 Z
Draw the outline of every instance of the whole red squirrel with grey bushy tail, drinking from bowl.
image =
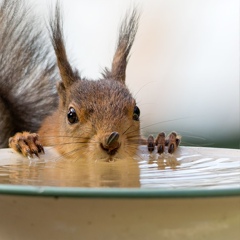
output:
M 180 137 L 174 132 L 143 140 L 140 109 L 125 84 L 139 23 L 136 9 L 122 21 L 111 69 L 97 81 L 81 77 L 68 60 L 59 3 L 50 19 L 49 41 L 43 31 L 35 31 L 27 11 L 23 1 L 5 0 L 1 6 L 2 147 L 9 138 L 9 146 L 28 157 L 52 146 L 65 157 L 86 154 L 106 161 L 134 156 L 144 141 L 150 152 L 155 146 L 159 154 L 165 146 L 169 153 L 177 149 Z

